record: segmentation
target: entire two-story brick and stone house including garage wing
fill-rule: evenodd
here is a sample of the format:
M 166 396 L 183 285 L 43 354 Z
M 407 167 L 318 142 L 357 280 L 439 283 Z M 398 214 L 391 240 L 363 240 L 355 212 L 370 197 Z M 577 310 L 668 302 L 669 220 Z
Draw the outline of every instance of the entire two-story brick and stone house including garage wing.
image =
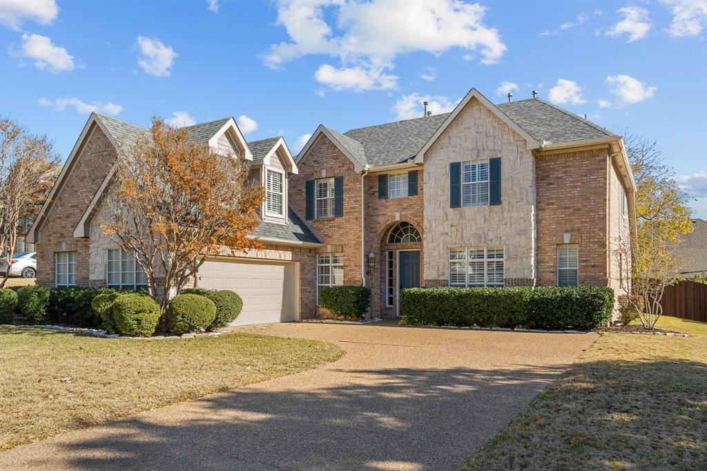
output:
M 213 257 L 197 277 L 243 297 L 238 324 L 312 317 L 322 286 L 369 286 L 370 315 L 395 316 L 400 287 L 618 289 L 629 273 L 613 253 L 635 226 L 621 137 L 537 98 L 493 105 L 472 89 L 444 115 L 321 125 L 296 161 L 281 137 L 246 142 L 232 118 L 186 129 L 266 189 L 263 250 Z M 81 194 L 98 203 L 115 149 L 145 132 L 91 115 L 28 236 L 38 284 L 144 284 Z

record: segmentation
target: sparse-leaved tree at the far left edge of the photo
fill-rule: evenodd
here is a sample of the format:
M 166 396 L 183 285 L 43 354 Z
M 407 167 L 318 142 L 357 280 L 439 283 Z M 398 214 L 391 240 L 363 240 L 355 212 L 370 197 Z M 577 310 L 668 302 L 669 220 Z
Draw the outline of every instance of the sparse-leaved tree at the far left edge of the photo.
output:
M 9 118 L 0 118 L 0 248 L 8 270 L 17 243 L 20 218 L 33 216 L 56 179 L 59 158 L 47 136 L 30 134 Z

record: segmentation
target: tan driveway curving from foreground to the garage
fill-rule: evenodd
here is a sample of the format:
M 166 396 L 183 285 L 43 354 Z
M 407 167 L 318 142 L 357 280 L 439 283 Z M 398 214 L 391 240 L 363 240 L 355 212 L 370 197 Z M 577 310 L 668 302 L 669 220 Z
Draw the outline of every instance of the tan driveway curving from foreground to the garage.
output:
M 597 338 L 311 323 L 240 330 L 325 339 L 346 356 L 16 448 L 0 468 L 451 470 Z

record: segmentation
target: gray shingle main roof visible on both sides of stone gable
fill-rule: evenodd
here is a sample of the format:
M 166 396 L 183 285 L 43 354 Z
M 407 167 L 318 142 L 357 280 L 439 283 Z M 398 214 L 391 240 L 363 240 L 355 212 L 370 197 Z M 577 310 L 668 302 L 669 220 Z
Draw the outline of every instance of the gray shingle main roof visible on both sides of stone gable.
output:
M 572 112 L 562 110 L 539 98 L 499 103 L 496 106 L 539 142 L 563 144 L 617 137 L 616 134 L 612 134 L 598 124 L 584 120 Z M 449 115 L 450 113 L 442 113 L 414 120 L 361 127 L 346 131 L 344 134 L 339 134 L 328 127 L 327 129 L 362 164 L 393 165 L 416 156 Z M 349 140 L 344 143 L 346 137 Z M 361 147 L 363 151 L 358 150 Z

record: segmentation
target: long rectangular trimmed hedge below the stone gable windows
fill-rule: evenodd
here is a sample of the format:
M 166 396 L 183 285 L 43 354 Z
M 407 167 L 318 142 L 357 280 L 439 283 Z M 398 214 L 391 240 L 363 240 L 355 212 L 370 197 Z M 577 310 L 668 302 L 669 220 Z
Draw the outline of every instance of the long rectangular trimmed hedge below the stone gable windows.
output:
M 400 299 L 413 325 L 590 330 L 614 308 L 614 290 L 591 286 L 411 288 Z

